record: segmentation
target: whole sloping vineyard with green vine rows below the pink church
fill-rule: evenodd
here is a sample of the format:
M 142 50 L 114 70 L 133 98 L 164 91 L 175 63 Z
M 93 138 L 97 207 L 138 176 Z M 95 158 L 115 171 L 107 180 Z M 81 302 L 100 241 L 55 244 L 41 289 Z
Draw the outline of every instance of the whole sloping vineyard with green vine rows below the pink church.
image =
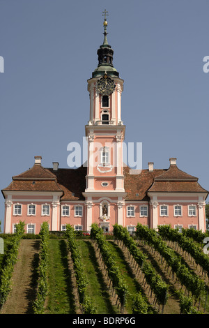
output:
M 0 254 L 1 314 L 208 314 L 209 257 L 206 234 L 196 230 L 158 231 L 137 225 L 132 237 L 114 225 L 104 235 L 38 235 L 24 223 L 3 235 Z

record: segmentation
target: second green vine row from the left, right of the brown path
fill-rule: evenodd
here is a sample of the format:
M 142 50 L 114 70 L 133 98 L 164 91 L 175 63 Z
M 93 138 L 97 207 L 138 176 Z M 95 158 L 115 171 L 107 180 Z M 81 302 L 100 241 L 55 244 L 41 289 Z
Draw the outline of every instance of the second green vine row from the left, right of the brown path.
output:
M 40 230 L 40 262 L 38 267 L 38 292 L 33 302 L 34 314 L 45 312 L 45 300 L 48 292 L 48 261 L 49 261 L 49 225 L 42 223 Z

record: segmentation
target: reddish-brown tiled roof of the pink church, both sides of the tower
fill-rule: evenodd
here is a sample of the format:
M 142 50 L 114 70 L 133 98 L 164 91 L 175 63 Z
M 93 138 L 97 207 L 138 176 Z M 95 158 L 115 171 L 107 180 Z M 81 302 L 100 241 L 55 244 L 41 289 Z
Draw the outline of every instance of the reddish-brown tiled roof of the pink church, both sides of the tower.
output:
M 198 178 L 179 170 L 176 165 L 170 165 L 166 170 L 141 170 L 140 174 L 131 174 L 130 168 L 124 167 L 123 172 L 125 200 L 148 201 L 148 192 L 208 193 L 199 185 Z M 84 200 L 85 188 L 86 167 L 53 170 L 35 164 L 13 177 L 12 183 L 3 191 L 63 191 L 62 200 Z

